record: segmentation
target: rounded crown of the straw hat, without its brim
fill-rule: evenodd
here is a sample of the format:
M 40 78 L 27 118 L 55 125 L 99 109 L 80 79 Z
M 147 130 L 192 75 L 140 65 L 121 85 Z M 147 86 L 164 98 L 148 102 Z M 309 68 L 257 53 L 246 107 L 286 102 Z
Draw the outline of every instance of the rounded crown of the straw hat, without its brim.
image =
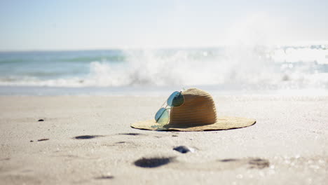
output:
M 205 90 L 190 88 L 182 92 L 184 104 L 172 107 L 169 124 L 212 124 L 217 122 L 217 110 L 212 96 Z

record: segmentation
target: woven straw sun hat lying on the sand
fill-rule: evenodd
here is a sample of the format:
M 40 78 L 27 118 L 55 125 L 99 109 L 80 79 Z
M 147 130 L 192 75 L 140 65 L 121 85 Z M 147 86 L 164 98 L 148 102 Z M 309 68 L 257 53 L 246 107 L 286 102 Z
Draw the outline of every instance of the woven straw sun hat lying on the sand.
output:
M 133 123 L 131 127 L 144 130 L 203 131 L 244 128 L 256 123 L 252 118 L 217 117 L 212 96 L 204 90 L 191 88 L 183 91 L 182 95 L 184 104 L 171 107 L 170 122 L 167 125 L 159 125 L 153 119 Z

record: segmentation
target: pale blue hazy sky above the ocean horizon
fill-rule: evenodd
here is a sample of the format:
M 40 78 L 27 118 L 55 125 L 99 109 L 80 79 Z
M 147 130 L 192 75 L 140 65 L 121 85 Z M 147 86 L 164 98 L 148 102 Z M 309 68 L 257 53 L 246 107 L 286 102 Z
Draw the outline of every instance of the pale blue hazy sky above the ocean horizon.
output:
M 327 0 L 0 0 L 0 50 L 321 44 L 327 8 Z

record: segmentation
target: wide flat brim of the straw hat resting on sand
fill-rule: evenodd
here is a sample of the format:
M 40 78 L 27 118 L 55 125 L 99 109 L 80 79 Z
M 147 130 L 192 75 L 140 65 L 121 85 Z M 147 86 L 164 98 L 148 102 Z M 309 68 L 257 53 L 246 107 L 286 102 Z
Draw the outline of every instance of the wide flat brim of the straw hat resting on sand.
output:
M 161 127 L 156 121 L 139 121 L 132 123 L 132 128 L 142 130 L 177 130 L 177 131 L 204 131 L 204 130 L 228 130 L 235 128 L 245 128 L 250 125 L 254 125 L 257 121 L 252 118 L 238 118 L 238 117 L 220 117 L 217 118 L 216 123 L 212 124 L 196 124 L 196 123 L 184 123 L 184 124 L 172 124 L 169 123 Z

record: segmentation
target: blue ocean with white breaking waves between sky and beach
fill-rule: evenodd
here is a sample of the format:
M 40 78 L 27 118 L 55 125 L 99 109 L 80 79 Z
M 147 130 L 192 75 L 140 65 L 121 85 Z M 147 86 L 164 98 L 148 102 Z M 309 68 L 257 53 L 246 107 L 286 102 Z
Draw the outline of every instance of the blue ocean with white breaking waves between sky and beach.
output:
M 325 95 L 328 45 L 0 52 L 0 95 L 165 95 L 189 87 Z

